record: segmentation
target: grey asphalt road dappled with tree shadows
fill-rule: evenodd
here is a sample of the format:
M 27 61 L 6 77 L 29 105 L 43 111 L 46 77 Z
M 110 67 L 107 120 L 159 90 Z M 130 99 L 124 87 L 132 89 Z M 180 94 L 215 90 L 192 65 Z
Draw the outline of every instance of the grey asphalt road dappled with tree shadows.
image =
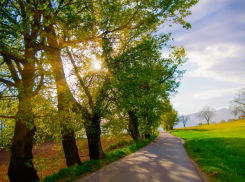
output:
M 77 182 L 202 182 L 181 139 L 168 132 Z

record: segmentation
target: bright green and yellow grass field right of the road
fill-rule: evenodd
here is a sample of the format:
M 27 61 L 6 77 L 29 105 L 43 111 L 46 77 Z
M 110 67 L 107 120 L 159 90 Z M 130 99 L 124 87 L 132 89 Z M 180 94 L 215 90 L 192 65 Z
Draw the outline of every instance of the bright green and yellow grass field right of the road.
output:
M 211 181 L 245 181 L 245 120 L 171 132 L 185 140 L 187 153 Z

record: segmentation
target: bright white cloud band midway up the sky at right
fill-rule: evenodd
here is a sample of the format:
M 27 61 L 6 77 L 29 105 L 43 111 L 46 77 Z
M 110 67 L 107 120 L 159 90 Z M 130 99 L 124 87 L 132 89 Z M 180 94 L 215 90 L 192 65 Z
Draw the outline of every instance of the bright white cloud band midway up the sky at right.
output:
M 185 76 L 207 77 L 245 84 L 245 72 L 241 70 L 241 66 L 245 62 L 245 60 L 243 61 L 245 57 L 244 49 L 245 47 L 234 44 L 216 44 L 206 47 L 202 52 L 189 52 L 189 62 L 196 63 L 198 69 L 187 72 Z M 233 60 L 238 61 L 233 62 Z

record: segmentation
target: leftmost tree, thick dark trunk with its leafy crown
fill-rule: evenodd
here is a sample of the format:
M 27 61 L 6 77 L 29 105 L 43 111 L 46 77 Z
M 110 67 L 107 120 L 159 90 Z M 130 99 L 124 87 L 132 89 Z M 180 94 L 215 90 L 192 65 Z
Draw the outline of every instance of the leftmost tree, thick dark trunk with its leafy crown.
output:
M 1 116 L 15 120 L 8 176 L 11 181 L 37 181 L 32 162 L 36 132 L 32 99 L 43 86 L 44 72 L 32 42 L 39 39 L 41 17 L 31 15 L 22 1 L 2 1 L 0 17 L 1 88 L 6 91 L 3 96 L 18 99 L 17 111 Z

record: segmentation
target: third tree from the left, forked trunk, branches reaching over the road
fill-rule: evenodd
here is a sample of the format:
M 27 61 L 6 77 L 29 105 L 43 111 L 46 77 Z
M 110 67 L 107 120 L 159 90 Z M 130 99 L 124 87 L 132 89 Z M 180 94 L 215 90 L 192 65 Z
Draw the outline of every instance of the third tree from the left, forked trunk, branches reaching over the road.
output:
M 165 3 L 158 1 L 156 3 L 137 1 L 134 6 L 131 6 L 132 1 L 119 1 L 116 4 L 111 4 L 107 1 L 98 1 L 98 3 L 91 5 L 91 7 L 97 7 L 93 9 L 93 11 L 96 11 L 96 15 L 92 15 L 93 20 L 95 20 L 93 25 L 96 25 L 96 28 L 93 30 L 94 37 L 90 38 L 88 32 L 86 40 L 97 40 L 98 44 L 95 46 L 99 46 L 94 52 L 97 53 L 97 56 L 102 61 L 102 65 L 108 72 L 104 73 L 102 79 L 94 79 L 95 76 L 93 74 L 81 78 L 78 74 L 78 66 L 74 64 L 79 63 L 79 61 L 81 62 L 81 56 L 79 58 L 78 56 L 72 55 L 72 50 L 77 48 L 77 45 L 70 46 L 67 49 L 67 54 L 74 67 L 80 88 L 84 93 L 83 101 L 85 101 L 85 104 L 81 108 L 81 111 L 84 116 L 85 128 L 87 128 L 86 133 L 91 158 L 99 159 L 101 156 L 104 156 L 100 146 L 100 120 L 103 116 L 102 111 L 106 109 L 103 107 L 106 102 L 106 95 L 111 92 L 109 85 L 111 77 L 113 76 L 112 71 L 117 71 L 115 67 L 122 61 L 122 59 L 117 58 L 120 57 L 122 53 L 130 50 L 130 48 L 137 47 L 144 38 L 147 38 L 149 34 L 156 30 L 158 25 L 164 23 L 166 20 L 165 17 L 171 17 L 174 19 L 174 23 L 180 23 L 187 29 L 190 28 L 190 24 L 183 21 L 183 18 L 190 12 L 184 12 L 182 9 L 184 7 L 190 7 L 195 3 L 197 3 L 197 1 L 186 1 L 185 3 L 174 1 Z M 178 11 L 182 18 L 180 18 L 181 16 L 177 16 L 176 12 Z M 160 17 L 164 17 L 164 19 L 160 20 Z M 72 36 L 70 37 L 74 38 Z M 83 43 L 86 44 L 86 41 Z M 142 52 L 142 54 L 143 53 L 144 52 Z M 76 57 L 78 58 L 77 61 L 75 61 Z M 92 84 L 94 81 L 95 83 Z M 86 82 L 87 84 L 85 84 Z M 129 115 L 131 116 L 131 121 L 136 120 L 134 108 L 129 110 Z M 132 117 L 134 119 L 132 119 Z M 137 133 L 137 131 L 135 133 Z

